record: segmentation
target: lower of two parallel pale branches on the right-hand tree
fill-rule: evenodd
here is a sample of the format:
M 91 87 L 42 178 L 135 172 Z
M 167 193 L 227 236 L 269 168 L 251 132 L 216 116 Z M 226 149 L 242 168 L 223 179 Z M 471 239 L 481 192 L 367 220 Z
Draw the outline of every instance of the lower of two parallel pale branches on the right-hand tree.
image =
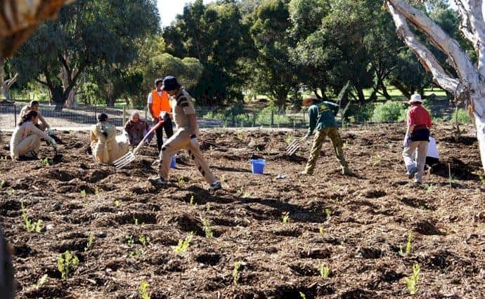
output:
M 406 19 L 401 15 L 390 1 L 387 1 L 387 6 L 389 12 L 394 19 L 396 24 L 396 32 L 403 38 L 404 43 L 413 51 L 421 64 L 427 71 L 433 74 L 433 81 L 435 81 L 439 86 L 444 88 L 446 91 L 455 93 L 459 86 L 458 80 L 449 76 L 443 67 L 439 64 L 437 58 L 429 51 L 420 41 L 416 38 L 415 34 L 411 32 Z M 461 91 L 458 91 L 461 92 Z

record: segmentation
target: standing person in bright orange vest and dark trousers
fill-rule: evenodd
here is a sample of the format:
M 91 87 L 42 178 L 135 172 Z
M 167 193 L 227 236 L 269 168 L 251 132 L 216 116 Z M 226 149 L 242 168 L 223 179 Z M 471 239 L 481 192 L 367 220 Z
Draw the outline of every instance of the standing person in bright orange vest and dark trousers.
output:
M 159 126 L 155 130 L 157 135 L 157 148 L 158 152 L 162 149 L 163 145 L 163 130 L 167 135 L 167 139 L 174 135 L 174 125 L 170 114 L 172 114 L 172 107 L 170 107 L 169 96 L 167 91 L 163 91 L 163 79 L 155 80 L 155 89 L 148 95 L 148 110 L 152 114 L 153 125 L 163 119 L 163 125 Z

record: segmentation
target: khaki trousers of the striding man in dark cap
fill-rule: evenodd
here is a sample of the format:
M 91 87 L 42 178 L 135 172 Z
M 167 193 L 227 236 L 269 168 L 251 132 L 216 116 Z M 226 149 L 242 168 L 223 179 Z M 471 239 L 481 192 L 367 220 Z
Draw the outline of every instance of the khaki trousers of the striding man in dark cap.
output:
M 158 174 L 161 178 L 168 179 L 172 156 L 181 149 L 187 150 L 188 155 L 194 160 L 195 166 L 197 166 L 206 182 L 209 184 L 216 182 L 214 174 L 200 153 L 199 145 L 194 145 L 190 142 L 190 133 L 186 128 L 180 128 L 162 145 L 160 164 L 158 164 Z

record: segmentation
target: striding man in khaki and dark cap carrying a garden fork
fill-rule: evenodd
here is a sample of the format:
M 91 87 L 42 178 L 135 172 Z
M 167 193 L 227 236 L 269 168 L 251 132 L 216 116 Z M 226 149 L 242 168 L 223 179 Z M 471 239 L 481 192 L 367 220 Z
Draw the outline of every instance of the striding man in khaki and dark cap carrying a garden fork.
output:
M 176 124 L 176 132 L 162 145 L 158 167 L 159 175 L 155 178 L 150 178 L 149 181 L 154 185 L 167 184 L 172 156 L 184 148 L 187 150 L 190 158 L 194 160 L 195 166 L 198 167 L 205 181 L 209 183 L 209 190 L 216 191 L 221 189 L 221 183 L 216 180 L 200 153 L 197 140 L 199 130 L 192 97 L 181 87 L 176 78 L 172 76 L 164 78 L 163 90 L 167 91 L 172 97 L 171 105 L 174 122 Z

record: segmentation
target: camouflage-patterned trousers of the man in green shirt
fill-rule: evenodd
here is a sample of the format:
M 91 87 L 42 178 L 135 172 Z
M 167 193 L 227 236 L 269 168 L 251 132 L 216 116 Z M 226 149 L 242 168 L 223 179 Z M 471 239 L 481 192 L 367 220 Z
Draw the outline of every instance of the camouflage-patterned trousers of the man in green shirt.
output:
M 322 128 L 318 131 L 315 135 L 315 139 L 313 140 L 313 147 L 311 147 L 311 154 L 310 159 L 306 163 L 305 172 L 308 174 L 313 174 L 313 169 L 316 165 L 316 160 L 320 157 L 321 147 L 325 138 L 328 136 L 330 141 L 332 142 L 333 151 L 335 152 L 335 156 L 342 165 L 343 170 L 348 170 L 347 161 L 344 158 L 344 152 L 342 151 L 342 138 L 340 138 L 340 134 L 337 128 Z

